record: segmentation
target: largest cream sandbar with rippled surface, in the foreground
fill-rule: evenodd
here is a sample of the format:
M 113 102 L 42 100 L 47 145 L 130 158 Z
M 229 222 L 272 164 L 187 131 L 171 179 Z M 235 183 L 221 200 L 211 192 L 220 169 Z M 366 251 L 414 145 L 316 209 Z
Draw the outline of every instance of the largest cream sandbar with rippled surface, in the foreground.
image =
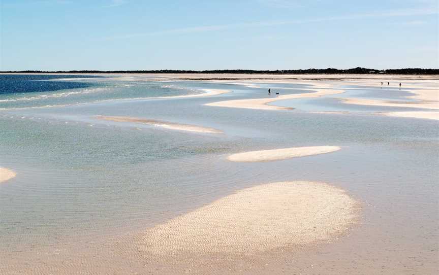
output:
M 161 256 L 252 255 L 332 239 L 357 218 L 358 203 L 325 183 L 276 182 L 240 190 L 155 226 L 136 244 Z

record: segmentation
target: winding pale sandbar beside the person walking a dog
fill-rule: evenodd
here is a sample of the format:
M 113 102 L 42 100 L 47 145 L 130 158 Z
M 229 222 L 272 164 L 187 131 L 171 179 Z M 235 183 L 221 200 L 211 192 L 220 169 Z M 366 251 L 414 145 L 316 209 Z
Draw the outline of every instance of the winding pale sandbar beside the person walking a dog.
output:
M 299 94 L 286 94 L 276 96 L 271 95 L 267 98 L 255 98 L 255 99 L 237 99 L 237 100 L 225 100 L 218 102 L 211 102 L 205 104 L 206 106 L 215 106 L 215 107 L 228 107 L 228 108 L 243 108 L 243 109 L 257 109 L 257 110 L 292 110 L 293 108 L 289 107 L 281 107 L 281 106 L 272 106 L 267 105 L 270 102 L 274 102 L 277 100 L 283 99 L 293 99 L 293 98 L 312 98 L 312 97 L 320 97 L 323 95 L 329 94 L 339 94 L 343 93 L 343 90 L 333 90 L 333 89 L 307 89 L 312 90 L 311 93 L 299 93 Z

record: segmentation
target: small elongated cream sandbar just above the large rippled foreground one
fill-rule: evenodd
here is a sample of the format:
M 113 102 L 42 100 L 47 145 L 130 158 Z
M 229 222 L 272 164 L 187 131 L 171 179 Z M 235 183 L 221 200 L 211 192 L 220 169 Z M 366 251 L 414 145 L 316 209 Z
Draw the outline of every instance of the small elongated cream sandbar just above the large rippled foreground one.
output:
M 228 156 L 227 159 L 235 162 L 274 161 L 274 160 L 283 160 L 283 159 L 295 158 L 295 157 L 326 154 L 338 150 L 340 150 L 340 147 L 338 146 L 293 147 L 293 148 L 237 153 Z

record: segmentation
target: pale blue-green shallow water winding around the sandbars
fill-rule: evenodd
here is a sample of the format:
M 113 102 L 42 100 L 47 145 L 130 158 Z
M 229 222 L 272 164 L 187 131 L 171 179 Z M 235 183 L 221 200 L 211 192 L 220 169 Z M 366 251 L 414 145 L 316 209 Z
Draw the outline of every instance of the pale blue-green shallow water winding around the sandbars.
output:
M 305 92 L 305 85 L 75 80 L 82 81 L 103 90 L 91 96 L 88 88 L 79 88 L 75 89 L 79 93 L 65 97 L 24 104 L 0 102 L 0 166 L 17 173 L 16 178 L 0 185 L 1 250 L 19 255 L 13 252 L 17 248 L 51 246 L 72 237 L 85 243 L 90 238 L 117 236 L 163 222 L 244 187 L 306 180 L 343 188 L 362 204 L 362 222 L 351 235 L 321 248 L 333 250 L 336 263 L 349 259 L 371 272 L 378 272 L 382 265 L 415 273 L 437 267 L 437 121 L 366 115 L 401 109 L 340 104 L 328 97 L 273 104 L 284 106 L 288 101 L 301 112 L 203 106 L 220 100 L 266 97 L 267 87 L 282 94 Z M 197 94 L 201 89 L 232 92 L 153 98 Z M 360 93 L 377 98 L 381 91 L 367 87 L 343 96 Z M 404 100 L 406 95 L 395 91 L 383 98 Z M 29 108 L 44 105 L 62 107 Z M 328 110 L 358 114 L 312 113 Z M 194 124 L 224 133 L 173 131 L 103 121 L 96 115 Z M 228 154 L 241 151 L 319 145 L 340 146 L 341 150 L 268 163 L 226 160 Z M 306 253 L 312 254 L 307 258 L 324 259 L 318 252 L 302 252 Z M 403 255 L 393 256 L 395 253 Z M 305 258 L 298 261 L 307 264 Z M 420 267 L 419 262 L 430 265 Z

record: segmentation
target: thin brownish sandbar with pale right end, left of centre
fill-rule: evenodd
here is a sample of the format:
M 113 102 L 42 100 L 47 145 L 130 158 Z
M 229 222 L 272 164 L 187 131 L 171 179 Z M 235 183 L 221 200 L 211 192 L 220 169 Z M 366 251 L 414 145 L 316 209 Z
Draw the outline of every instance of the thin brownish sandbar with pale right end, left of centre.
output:
M 179 131 L 189 131 L 189 132 L 199 132 L 199 133 L 222 133 L 223 131 L 217 130 L 214 128 L 190 125 L 190 124 L 181 124 L 169 121 L 162 120 L 154 120 L 154 119 L 145 119 L 145 118 L 136 118 L 136 117 L 119 117 L 119 116 L 96 116 L 98 119 L 114 121 L 114 122 L 134 122 L 147 124 L 151 126 L 166 128 L 170 130 L 179 130 Z

